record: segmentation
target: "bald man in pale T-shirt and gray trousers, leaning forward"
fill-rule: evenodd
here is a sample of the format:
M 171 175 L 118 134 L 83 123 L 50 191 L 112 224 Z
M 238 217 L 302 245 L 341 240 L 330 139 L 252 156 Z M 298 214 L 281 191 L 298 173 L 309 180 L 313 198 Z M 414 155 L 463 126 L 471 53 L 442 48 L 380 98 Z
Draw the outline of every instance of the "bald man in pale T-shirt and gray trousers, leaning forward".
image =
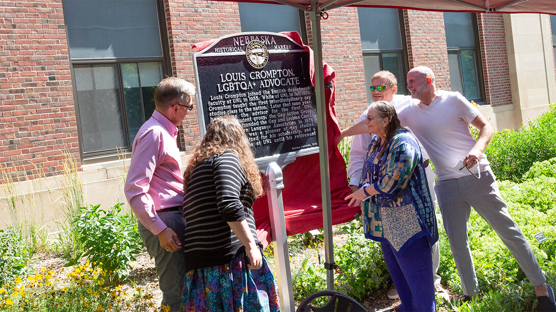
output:
M 542 311 L 555 311 L 554 292 L 518 225 L 510 217 L 488 159 L 483 154 L 493 135 L 486 118 L 459 92 L 438 90 L 430 68 L 408 73 L 412 102 L 398 110 L 429 154 L 438 175 L 435 192 L 450 248 L 465 295 L 470 300 L 479 285 L 468 240 L 471 207 L 495 230 L 535 288 Z M 479 130 L 475 141 L 469 124 Z

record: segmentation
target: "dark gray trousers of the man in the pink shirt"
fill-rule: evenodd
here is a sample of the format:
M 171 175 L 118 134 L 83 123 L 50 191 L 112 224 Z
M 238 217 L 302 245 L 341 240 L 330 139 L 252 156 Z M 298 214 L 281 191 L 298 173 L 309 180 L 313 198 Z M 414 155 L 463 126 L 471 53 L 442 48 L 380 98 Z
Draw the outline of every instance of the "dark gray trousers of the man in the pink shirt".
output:
M 181 212 L 161 212 L 158 218 L 176 232 L 178 238 L 184 245 L 185 219 Z M 183 282 L 185 281 L 185 258 L 183 248 L 171 253 L 160 246 L 158 236 L 147 230 L 141 222 L 138 225 L 139 234 L 147 248 L 148 254 L 155 258 L 156 273 L 158 274 L 158 284 L 162 290 L 162 305 L 169 305 L 171 311 L 180 311 L 181 294 Z

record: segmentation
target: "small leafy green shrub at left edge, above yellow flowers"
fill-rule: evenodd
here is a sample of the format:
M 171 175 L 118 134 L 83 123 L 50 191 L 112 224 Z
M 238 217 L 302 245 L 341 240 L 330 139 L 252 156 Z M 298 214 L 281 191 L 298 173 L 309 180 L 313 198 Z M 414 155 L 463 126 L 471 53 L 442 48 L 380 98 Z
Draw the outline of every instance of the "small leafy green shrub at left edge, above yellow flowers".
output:
M 31 253 L 24 244 L 21 227 L 0 230 L 0 286 L 27 272 Z

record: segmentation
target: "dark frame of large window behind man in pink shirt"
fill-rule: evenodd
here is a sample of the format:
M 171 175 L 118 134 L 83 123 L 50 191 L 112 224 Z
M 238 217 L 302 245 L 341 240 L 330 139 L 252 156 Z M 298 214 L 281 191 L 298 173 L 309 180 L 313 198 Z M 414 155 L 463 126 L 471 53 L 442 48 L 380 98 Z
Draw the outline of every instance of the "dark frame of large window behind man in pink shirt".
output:
M 103 160 L 115 160 L 121 158 L 120 154 L 128 154 L 131 153 L 133 139 L 130 138 L 129 130 L 128 130 L 128 122 L 127 122 L 127 110 L 126 110 L 126 99 L 125 94 L 123 92 L 123 77 L 122 77 L 122 63 L 152 63 L 158 62 L 161 63 L 162 69 L 162 77 L 172 77 L 172 64 L 170 61 L 170 47 L 168 44 L 168 31 L 166 26 L 166 16 L 164 10 L 164 3 L 162 0 L 155 0 L 156 1 L 156 9 L 157 9 L 157 16 L 158 16 L 158 31 L 160 34 L 160 42 L 162 46 L 162 56 L 161 57 L 131 57 L 131 58 L 80 58 L 80 59 L 72 59 L 71 58 L 71 51 L 69 49 L 68 43 L 68 58 L 69 58 L 69 72 L 71 74 L 71 82 L 72 82 L 72 90 L 73 90 L 73 103 L 75 107 L 75 114 L 76 114 L 76 127 L 77 127 L 77 137 L 79 143 L 79 151 L 81 162 L 83 164 L 90 163 L 91 160 L 96 162 L 95 159 L 101 158 Z M 62 2 L 63 7 L 63 2 Z M 66 28 L 66 36 L 67 36 L 67 24 L 64 24 Z M 118 87 L 122 92 L 120 92 L 120 100 L 122 103 L 122 112 L 124 116 L 123 120 L 123 127 L 126 129 L 125 136 L 127 138 L 127 146 L 126 147 L 115 147 L 115 148 L 107 148 L 107 149 L 100 149 L 95 150 L 92 152 L 86 152 L 83 149 L 83 133 L 81 129 L 81 120 L 80 120 L 80 112 L 79 112 L 79 103 L 77 98 L 77 83 L 75 77 L 75 66 L 87 66 L 87 65 L 116 65 L 116 71 L 118 75 Z M 145 113 L 145 107 L 143 102 L 143 94 L 141 94 L 141 109 L 143 110 L 143 115 Z M 181 137 L 178 135 L 178 147 L 181 149 Z

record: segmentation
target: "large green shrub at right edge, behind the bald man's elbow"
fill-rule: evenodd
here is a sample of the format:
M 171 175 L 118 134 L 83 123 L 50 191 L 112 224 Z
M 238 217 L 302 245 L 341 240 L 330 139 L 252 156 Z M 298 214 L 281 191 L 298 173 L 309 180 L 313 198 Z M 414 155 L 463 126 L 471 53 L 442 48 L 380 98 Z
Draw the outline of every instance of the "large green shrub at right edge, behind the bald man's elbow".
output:
M 495 132 L 485 154 L 501 180 L 518 182 L 534 162 L 556 157 L 556 104 L 528 127 Z

